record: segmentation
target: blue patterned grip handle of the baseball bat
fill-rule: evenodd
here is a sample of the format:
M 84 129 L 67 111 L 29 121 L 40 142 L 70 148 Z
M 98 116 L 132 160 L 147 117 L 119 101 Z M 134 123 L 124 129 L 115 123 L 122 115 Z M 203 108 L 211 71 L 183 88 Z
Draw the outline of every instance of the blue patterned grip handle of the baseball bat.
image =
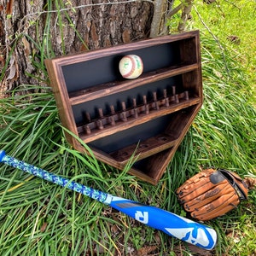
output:
M 20 169 L 36 177 L 41 177 L 42 179 L 47 180 L 51 183 L 61 185 L 62 187 L 65 187 L 67 189 L 72 189 L 73 191 L 79 192 L 83 195 L 87 195 L 90 198 L 95 199 L 96 201 L 108 204 L 109 196 L 107 193 L 104 193 L 96 189 L 91 189 L 90 187 L 84 186 L 80 183 L 73 182 L 65 177 L 61 177 L 59 175 L 55 175 L 43 169 L 40 169 L 36 166 L 29 165 L 24 161 L 17 160 L 14 157 L 5 154 L 3 150 L 0 150 L 0 162 L 3 162 L 8 166 Z

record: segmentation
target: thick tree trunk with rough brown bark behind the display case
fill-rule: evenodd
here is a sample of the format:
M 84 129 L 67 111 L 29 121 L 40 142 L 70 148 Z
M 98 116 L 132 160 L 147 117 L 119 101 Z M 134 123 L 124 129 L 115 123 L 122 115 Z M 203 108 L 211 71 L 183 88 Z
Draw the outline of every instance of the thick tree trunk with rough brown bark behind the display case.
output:
M 44 59 L 148 38 L 151 1 L 0 0 L 0 93 L 45 85 Z

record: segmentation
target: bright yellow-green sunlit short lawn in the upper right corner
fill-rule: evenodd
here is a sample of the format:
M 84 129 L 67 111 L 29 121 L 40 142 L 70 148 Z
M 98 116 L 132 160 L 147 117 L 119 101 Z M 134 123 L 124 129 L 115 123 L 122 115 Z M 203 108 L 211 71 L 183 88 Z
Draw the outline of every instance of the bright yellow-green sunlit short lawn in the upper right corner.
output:
M 217 0 L 205 4 L 195 0 L 190 26 L 198 28 L 208 37 L 218 40 L 219 47 L 232 52 L 232 58 L 240 63 L 247 83 L 246 90 L 253 93 L 255 106 L 256 90 L 256 3 L 254 0 Z M 223 61 L 224 58 L 223 58 Z M 239 79 L 239 78 L 238 78 Z

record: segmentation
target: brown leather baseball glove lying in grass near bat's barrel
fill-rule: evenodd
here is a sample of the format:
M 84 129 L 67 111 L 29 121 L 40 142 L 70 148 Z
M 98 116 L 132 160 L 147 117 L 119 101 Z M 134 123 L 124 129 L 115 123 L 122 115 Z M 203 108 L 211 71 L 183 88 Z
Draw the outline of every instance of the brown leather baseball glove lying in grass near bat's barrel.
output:
M 247 193 L 247 184 L 236 173 L 207 169 L 183 183 L 177 189 L 177 198 L 193 218 L 209 220 L 247 200 Z

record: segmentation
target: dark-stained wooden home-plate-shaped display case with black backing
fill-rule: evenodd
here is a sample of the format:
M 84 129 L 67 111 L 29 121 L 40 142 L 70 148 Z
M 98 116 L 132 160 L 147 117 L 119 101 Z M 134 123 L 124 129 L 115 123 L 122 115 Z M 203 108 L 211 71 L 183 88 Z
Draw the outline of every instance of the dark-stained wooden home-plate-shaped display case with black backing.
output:
M 143 60 L 143 74 L 123 79 L 119 60 Z M 201 108 L 199 32 L 183 32 L 45 61 L 61 123 L 96 156 L 156 184 Z M 83 151 L 70 134 L 67 141 Z

